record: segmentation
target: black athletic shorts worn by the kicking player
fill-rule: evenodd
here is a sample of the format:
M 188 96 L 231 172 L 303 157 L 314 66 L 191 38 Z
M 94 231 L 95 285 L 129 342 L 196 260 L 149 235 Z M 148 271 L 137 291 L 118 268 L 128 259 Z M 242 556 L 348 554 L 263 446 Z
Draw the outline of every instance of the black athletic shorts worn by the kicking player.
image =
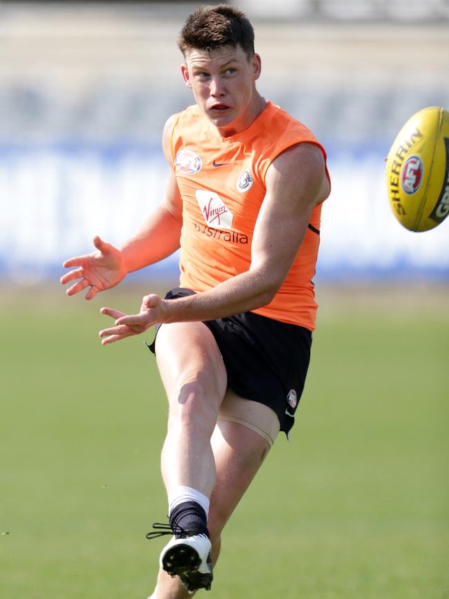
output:
M 194 294 L 171 289 L 165 298 Z M 204 321 L 216 339 L 227 370 L 228 386 L 241 397 L 269 406 L 286 434 L 294 416 L 309 368 L 312 332 L 254 312 Z M 157 334 L 157 330 L 156 330 Z M 155 353 L 155 340 L 149 345 Z

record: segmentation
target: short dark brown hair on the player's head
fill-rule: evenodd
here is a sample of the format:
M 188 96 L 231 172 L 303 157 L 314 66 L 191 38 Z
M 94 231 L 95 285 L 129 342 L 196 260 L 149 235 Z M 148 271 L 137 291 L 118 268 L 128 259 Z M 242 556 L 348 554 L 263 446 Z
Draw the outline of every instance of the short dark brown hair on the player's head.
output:
M 248 59 L 254 55 L 254 29 L 247 16 L 235 6 L 201 6 L 187 19 L 178 47 L 185 56 L 189 50 L 216 50 L 220 46 L 240 46 Z

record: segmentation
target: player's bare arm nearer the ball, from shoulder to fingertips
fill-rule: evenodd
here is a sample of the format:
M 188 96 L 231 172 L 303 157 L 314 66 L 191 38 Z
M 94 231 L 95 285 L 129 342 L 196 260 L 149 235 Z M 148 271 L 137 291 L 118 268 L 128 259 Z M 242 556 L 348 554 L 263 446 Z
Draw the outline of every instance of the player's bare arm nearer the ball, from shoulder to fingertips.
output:
M 329 193 L 321 150 L 304 143 L 283 152 L 269 167 L 266 184 L 247 272 L 193 296 L 171 301 L 145 296 L 140 314 L 121 316 L 116 327 L 100 333 L 107 338 L 103 343 L 142 332 L 129 332 L 128 325 L 146 330 L 157 322 L 206 321 L 267 305 L 292 266 L 312 210 Z M 108 310 L 102 312 L 109 314 Z

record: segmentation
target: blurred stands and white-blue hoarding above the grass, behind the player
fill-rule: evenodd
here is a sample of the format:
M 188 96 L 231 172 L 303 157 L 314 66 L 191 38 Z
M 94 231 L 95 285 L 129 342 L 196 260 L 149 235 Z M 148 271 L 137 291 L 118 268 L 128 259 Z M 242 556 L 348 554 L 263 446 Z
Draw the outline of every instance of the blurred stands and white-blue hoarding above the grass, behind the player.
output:
M 384 158 L 412 113 L 449 106 L 448 1 L 238 5 L 254 21 L 260 91 L 329 151 L 318 278 L 447 280 L 446 223 L 401 229 Z M 193 6 L 0 2 L 1 278 L 54 277 L 93 234 L 121 243 L 160 201 L 162 126 L 192 101 L 175 39 Z

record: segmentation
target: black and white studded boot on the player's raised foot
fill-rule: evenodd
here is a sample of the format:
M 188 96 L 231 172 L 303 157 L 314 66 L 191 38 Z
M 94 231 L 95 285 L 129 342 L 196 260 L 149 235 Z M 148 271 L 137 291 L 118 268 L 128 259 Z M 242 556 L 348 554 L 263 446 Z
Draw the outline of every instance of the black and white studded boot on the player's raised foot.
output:
M 175 535 L 162 549 L 159 562 L 160 567 L 170 574 L 179 576 L 182 586 L 189 593 L 198 589 L 211 589 L 213 580 L 211 542 L 204 534 L 189 533 L 180 526 L 172 527 L 170 524 L 153 524 L 155 532 L 148 533 L 147 539 L 162 535 Z

